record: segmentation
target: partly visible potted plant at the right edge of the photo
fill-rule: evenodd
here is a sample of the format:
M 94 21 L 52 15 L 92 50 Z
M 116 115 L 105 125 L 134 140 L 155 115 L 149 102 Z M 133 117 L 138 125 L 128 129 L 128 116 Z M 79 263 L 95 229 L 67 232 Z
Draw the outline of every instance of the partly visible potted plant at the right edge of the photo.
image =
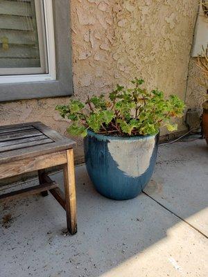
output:
M 205 102 L 202 103 L 202 133 L 208 144 L 208 47 L 202 48 L 201 55 L 198 56 L 197 66 L 200 69 L 202 76 L 198 78 L 198 83 L 205 87 Z M 203 80 L 202 80 L 203 79 Z

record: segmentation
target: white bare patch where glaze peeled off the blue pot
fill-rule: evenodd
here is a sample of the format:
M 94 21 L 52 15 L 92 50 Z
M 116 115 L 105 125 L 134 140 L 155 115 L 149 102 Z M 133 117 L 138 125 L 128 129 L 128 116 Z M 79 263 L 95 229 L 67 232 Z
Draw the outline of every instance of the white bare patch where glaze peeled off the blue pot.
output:
M 139 177 L 148 169 L 155 138 L 138 140 L 112 140 L 107 148 L 119 170 L 130 177 Z

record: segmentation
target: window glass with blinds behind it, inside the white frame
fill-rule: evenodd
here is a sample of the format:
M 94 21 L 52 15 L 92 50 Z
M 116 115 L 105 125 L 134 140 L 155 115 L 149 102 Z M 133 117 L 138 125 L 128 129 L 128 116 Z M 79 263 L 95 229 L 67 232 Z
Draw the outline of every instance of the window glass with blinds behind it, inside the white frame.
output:
M 46 72 L 40 0 L 0 1 L 0 75 Z

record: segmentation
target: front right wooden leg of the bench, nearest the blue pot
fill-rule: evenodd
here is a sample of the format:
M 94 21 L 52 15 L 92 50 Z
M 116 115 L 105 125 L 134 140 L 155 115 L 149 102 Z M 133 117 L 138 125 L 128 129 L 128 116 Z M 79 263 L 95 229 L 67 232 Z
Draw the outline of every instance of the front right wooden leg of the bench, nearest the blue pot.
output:
M 67 212 L 67 229 L 71 235 L 73 235 L 77 231 L 73 149 L 67 150 L 67 163 L 64 165 L 64 192 Z

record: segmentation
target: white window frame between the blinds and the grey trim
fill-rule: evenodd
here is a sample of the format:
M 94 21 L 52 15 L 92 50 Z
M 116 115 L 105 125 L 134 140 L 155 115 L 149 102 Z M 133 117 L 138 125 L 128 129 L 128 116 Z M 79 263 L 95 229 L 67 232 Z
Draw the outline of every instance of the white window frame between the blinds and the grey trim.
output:
M 38 3 L 35 1 L 35 7 Z M 37 9 L 38 10 L 38 9 Z M 40 49 L 40 60 L 46 59 L 44 61 L 44 67 L 48 73 L 35 74 L 31 73 L 33 70 L 26 69 L 28 74 L 21 75 L 0 75 L 0 84 L 7 83 L 22 83 L 22 82 L 42 82 L 49 80 L 56 80 L 56 69 L 55 69 L 55 37 L 54 37 L 54 27 L 53 27 L 53 5 L 52 0 L 42 0 L 42 12 L 41 15 L 37 14 L 38 17 L 42 17 L 42 22 L 44 22 L 46 43 L 44 49 Z M 44 31 L 44 30 L 43 30 Z M 44 37 L 44 35 L 42 36 Z M 45 55 L 42 55 L 42 53 Z M 9 70 L 9 69 L 7 69 Z

